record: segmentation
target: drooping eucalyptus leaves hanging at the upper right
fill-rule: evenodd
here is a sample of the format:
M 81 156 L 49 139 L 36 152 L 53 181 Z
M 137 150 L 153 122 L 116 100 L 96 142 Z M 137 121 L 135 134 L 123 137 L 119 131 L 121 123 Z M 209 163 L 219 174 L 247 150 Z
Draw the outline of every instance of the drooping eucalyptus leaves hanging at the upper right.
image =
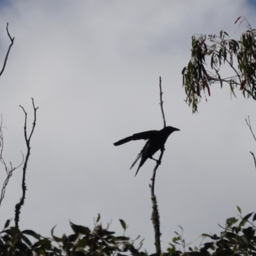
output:
M 256 30 L 249 23 L 247 28 L 238 41 L 230 39 L 223 30 L 219 36 L 192 36 L 191 60 L 182 70 L 182 86 L 193 113 L 197 111 L 202 92 L 206 99 L 215 83 L 221 88 L 228 84 L 231 95 L 235 97 L 234 90 L 238 86 L 244 97 L 256 100 Z M 221 65 L 228 65 L 232 75 L 221 74 Z

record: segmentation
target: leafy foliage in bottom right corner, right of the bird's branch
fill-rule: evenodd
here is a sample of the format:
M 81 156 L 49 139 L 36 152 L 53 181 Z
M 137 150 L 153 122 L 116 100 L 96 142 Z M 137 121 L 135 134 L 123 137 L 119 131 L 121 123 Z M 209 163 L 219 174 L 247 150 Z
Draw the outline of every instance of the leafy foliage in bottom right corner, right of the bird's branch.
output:
M 223 255 L 223 256 L 238 256 L 238 255 L 256 255 L 256 236 L 254 221 L 256 220 L 256 214 L 250 213 L 246 216 L 241 216 L 241 209 L 237 207 L 239 211 L 238 218 L 228 218 L 226 220 L 225 227 L 220 235 L 202 234 L 202 242 L 199 246 L 191 248 L 189 244 L 186 244 L 182 238 L 182 234 L 175 232 L 176 237 L 173 238 L 173 243 L 170 243 L 168 248 L 168 255 Z M 250 221 L 250 218 L 252 219 Z M 183 231 L 183 230 L 182 230 Z M 205 239 L 207 239 L 206 242 Z M 181 246 L 181 249 L 177 249 Z M 187 249 L 188 248 L 188 249 Z M 167 254 L 165 254 L 167 255 Z

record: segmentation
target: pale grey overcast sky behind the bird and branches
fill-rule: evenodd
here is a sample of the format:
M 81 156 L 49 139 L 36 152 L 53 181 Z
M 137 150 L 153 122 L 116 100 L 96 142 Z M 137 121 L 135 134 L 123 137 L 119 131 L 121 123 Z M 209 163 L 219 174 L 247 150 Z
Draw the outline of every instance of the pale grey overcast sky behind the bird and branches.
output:
M 159 76 L 166 122 L 180 129 L 166 143 L 157 170 L 156 195 L 163 249 L 184 228 L 191 241 L 203 232 L 220 232 L 218 223 L 255 211 L 256 170 L 250 150 L 256 144 L 255 102 L 230 99 L 229 89 L 211 88 L 199 113 L 191 114 L 181 70 L 189 61 L 191 36 L 218 34 L 239 38 L 234 21 L 244 15 L 255 28 L 253 1 L 8 1 L 0 8 L 0 60 L 15 36 L 0 77 L 6 163 L 26 153 L 24 113 L 33 122 L 31 97 L 39 107 L 27 171 L 27 194 L 20 228 L 44 236 L 70 234 L 68 220 L 93 227 L 102 215 L 111 230 L 145 237 L 154 252 L 148 184 L 154 161 L 134 178 L 132 161 L 145 141 L 114 147 L 136 132 L 161 129 Z M 156 154 L 156 157 L 158 154 Z M 0 209 L 1 223 L 13 218 L 21 196 L 22 169 L 16 170 Z M 0 180 L 5 172 L 1 167 Z

